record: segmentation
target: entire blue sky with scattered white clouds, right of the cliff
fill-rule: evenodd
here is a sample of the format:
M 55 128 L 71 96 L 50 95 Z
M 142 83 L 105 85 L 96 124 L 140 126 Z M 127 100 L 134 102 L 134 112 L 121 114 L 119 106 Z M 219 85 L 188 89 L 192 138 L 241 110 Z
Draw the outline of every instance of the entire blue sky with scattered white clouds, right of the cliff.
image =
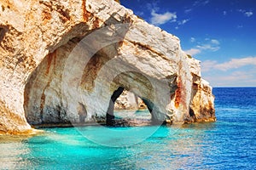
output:
M 177 36 L 212 87 L 256 87 L 256 0 L 121 0 Z

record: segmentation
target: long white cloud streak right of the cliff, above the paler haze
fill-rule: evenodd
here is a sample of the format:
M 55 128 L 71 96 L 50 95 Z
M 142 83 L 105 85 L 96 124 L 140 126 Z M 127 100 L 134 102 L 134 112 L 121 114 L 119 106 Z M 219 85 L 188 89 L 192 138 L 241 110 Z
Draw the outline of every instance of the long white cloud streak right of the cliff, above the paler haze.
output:
M 206 60 L 201 63 L 202 71 L 210 71 L 212 69 L 219 71 L 228 71 L 238 69 L 247 65 L 256 65 L 256 57 L 246 57 L 241 59 L 230 59 L 228 62 L 218 63 L 214 60 Z

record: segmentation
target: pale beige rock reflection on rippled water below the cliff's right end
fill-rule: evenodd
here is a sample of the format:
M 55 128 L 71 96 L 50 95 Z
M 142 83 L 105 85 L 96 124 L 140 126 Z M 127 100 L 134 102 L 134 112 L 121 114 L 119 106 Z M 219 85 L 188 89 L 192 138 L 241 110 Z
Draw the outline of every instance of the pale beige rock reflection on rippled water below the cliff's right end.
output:
M 191 133 L 189 129 L 180 129 L 172 133 L 172 128 L 161 128 L 166 131 L 166 139 L 148 139 L 148 144 L 141 144 L 141 154 L 137 155 L 136 165 L 138 169 L 179 169 L 200 167 L 203 159 L 202 139 L 198 138 L 200 132 Z M 156 134 L 157 135 L 157 134 Z M 152 147 L 154 145 L 154 147 Z

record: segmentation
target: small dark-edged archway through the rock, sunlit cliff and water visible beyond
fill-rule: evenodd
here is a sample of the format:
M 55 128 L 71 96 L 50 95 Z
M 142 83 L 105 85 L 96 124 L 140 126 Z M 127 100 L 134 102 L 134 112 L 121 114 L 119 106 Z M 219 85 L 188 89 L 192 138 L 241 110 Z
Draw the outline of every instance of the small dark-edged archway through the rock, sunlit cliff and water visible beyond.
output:
M 143 126 L 155 124 L 154 104 L 123 87 L 116 89 L 106 114 L 108 126 Z

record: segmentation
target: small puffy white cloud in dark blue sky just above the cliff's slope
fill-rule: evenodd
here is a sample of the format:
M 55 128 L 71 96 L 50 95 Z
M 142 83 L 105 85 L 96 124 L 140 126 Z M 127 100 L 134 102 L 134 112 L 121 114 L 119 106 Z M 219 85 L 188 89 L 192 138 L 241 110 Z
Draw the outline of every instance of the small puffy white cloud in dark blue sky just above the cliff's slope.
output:
M 151 11 L 152 18 L 150 19 L 151 24 L 159 26 L 166 24 L 166 22 L 175 22 L 177 19 L 176 13 L 166 12 L 165 14 L 157 14 L 154 9 Z

